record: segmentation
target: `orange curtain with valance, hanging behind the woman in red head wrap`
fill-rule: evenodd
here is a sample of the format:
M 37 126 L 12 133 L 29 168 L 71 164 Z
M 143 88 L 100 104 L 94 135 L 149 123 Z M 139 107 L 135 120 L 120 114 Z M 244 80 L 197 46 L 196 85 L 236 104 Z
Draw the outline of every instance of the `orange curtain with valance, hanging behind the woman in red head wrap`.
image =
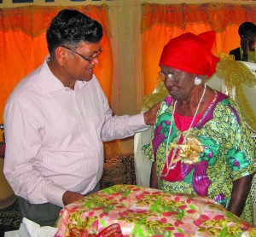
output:
M 256 6 L 229 3 L 143 4 L 143 92 L 152 93 L 160 71 L 160 54 L 166 43 L 184 32 L 216 31 L 212 53 L 228 54 L 240 45 L 238 27 L 256 22 Z

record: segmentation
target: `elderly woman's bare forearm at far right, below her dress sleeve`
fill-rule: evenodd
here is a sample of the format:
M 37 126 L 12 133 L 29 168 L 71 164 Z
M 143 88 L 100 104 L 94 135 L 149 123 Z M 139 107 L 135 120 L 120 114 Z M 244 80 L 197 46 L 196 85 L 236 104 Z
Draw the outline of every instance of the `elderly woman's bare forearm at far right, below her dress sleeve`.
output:
M 253 176 L 243 176 L 233 182 L 233 189 L 228 210 L 240 217 L 247 195 L 250 192 Z

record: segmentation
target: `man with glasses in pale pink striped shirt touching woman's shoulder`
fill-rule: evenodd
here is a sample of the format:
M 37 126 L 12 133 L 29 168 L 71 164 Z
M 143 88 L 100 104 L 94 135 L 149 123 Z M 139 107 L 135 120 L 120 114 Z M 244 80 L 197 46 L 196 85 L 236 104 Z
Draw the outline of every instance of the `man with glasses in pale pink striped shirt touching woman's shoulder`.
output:
M 113 116 L 93 74 L 102 26 L 64 9 L 46 33 L 49 56 L 9 96 L 4 173 L 22 217 L 53 226 L 63 205 L 99 190 L 102 141 L 132 136 L 154 124 L 148 113 Z

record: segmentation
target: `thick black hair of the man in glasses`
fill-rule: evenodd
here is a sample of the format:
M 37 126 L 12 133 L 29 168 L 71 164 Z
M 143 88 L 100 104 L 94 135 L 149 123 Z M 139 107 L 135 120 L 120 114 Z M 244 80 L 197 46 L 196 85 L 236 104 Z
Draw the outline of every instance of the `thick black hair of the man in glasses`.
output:
M 78 10 L 63 9 L 51 21 L 46 39 L 49 54 L 53 56 L 60 45 L 75 48 L 81 42 L 100 42 L 102 25 Z

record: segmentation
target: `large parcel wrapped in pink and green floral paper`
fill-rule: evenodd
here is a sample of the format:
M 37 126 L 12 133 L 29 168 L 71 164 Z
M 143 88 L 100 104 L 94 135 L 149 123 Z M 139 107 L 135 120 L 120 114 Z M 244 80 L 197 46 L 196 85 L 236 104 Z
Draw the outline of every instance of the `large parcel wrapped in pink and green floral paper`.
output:
M 71 229 L 97 234 L 119 223 L 124 236 L 256 236 L 256 228 L 212 199 L 115 185 L 67 205 L 55 237 Z

